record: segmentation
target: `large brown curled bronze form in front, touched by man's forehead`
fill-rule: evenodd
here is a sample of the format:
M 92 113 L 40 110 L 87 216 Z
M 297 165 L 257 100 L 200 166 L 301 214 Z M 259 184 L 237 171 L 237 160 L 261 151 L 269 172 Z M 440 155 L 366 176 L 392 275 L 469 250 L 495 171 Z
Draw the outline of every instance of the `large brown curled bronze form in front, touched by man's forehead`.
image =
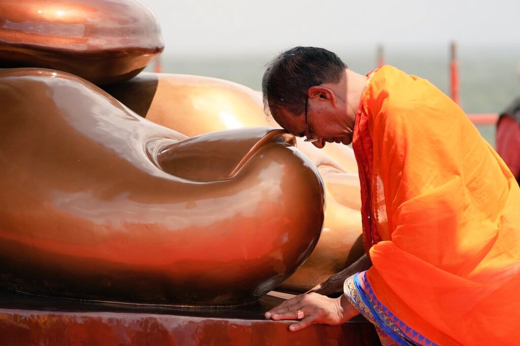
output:
M 44 69 L 0 70 L 0 104 L 0 286 L 238 304 L 278 286 L 318 241 L 322 182 L 279 130 L 186 139 Z

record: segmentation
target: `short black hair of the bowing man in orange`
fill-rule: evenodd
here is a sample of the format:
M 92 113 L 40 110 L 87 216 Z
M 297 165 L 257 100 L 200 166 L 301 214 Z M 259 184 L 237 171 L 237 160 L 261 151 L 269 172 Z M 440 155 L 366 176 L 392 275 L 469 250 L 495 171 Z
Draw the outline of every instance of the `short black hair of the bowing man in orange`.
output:
M 307 90 L 341 80 L 347 65 L 333 52 L 316 47 L 294 47 L 267 64 L 262 78 L 264 109 L 283 107 L 293 114 L 305 110 Z M 267 112 L 266 112 L 267 113 Z

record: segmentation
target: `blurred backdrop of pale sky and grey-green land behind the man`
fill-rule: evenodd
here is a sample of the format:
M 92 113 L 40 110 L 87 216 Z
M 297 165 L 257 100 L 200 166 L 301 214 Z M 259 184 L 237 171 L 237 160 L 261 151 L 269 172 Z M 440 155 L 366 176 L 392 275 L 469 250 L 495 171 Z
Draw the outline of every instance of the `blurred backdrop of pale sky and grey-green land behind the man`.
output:
M 141 0 L 157 15 L 162 72 L 261 88 L 265 64 L 289 47 L 327 48 L 367 73 L 383 58 L 450 95 L 457 44 L 460 105 L 497 113 L 520 94 L 520 1 Z M 153 70 L 150 66 L 148 70 Z M 495 144 L 495 125 L 477 125 Z

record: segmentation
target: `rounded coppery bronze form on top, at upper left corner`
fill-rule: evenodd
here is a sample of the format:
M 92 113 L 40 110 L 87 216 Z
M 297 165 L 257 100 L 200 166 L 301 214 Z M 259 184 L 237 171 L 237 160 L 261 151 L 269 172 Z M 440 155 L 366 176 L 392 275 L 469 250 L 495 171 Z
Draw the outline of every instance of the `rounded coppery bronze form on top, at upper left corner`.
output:
M 157 18 L 134 0 L 0 0 L 0 68 L 126 81 L 164 49 Z

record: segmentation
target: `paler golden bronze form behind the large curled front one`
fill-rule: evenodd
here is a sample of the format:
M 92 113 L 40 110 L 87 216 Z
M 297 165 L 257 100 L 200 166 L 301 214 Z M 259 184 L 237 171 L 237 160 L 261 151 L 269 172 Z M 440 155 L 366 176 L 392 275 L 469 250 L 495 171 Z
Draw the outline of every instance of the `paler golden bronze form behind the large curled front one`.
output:
M 187 136 L 247 126 L 276 125 L 257 92 L 209 77 L 141 73 L 105 88 L 137 114 Z M 313 254 L 278 289 L 302 292 L 356 261 L 362 254 L 359 178 L 352 149 L 327 143 L 297 147 L 318 167 L 326 185 L 327 214 Z

